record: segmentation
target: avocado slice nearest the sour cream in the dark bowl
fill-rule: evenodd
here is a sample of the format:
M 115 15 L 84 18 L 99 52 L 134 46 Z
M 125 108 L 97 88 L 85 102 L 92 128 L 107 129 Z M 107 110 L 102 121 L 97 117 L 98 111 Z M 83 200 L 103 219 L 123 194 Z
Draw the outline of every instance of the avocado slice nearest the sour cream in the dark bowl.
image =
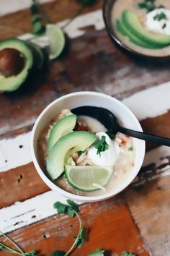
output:
M 141 25 L 137 14 L 134 12 L 122 12 L 122 22 L 130 33 L 140 40 L 143 40 L 143 42 L 151 44 L 153 48 L 164 48 L 170 45 L 170 35 L 160 35 L 149 32 Z

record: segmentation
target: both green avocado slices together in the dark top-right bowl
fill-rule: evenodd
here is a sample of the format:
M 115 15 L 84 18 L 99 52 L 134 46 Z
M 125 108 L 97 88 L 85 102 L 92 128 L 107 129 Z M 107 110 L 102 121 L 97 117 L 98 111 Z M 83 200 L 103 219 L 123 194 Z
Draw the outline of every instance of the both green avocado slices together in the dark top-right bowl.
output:
M 170 35 L 159 35 L 146 30 L 134 12 L 122 12 L 122 21 L 117 22 L 117 30 L 131 42 L 144 48 L 156 49 L 170 45 Z

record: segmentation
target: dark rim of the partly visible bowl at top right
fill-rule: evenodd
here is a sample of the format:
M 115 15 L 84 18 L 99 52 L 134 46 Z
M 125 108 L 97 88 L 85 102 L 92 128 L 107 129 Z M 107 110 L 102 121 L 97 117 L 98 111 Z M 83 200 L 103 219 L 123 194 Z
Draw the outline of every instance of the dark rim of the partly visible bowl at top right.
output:
M 111 0 L 113 2 L 112 6 L 115 4 L 115 1 L 118 0 Z M 105 28 L 107 30 L 107 34 L 113 39 L 115 40 L 115 42 L 122 48 L 124 48 L 126 51 L 130 52 L 130 54 L 133 54 L 135 56 L 140 56 L 146 59 L 152 59 L 152 60 L 158 60 L 158 59 L 170 59 L 170 54 L 166 55 L 166 56 L 151 56 L 148 54 L 142 54 L 138 51 L 133 50 L 132 48 L 128 47 L 125 43 L 123 43 L 119 38 L 117 38 L 117 36 L 115 35 L 114 31 L 110 29 L 110 25 L 107 22 L 107 16 L 108 16 L 108 12 L 107 12 L 107 4 L 108 4 L 108 0 L 104 0 L 103 3 L 103 8 L 102 8 L 102 16 L 103 16 L 103 20 L 104 20 L 104 24 L 105 24 Z M 110 20 L 110 18 L 109 18 Z

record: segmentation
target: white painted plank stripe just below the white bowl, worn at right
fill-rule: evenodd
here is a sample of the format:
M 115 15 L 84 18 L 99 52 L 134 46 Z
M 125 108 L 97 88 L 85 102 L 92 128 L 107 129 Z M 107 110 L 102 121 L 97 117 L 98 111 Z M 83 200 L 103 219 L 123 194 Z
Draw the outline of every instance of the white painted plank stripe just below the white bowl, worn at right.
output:
M 166 156 L 170 156 L 170 148 L 161 146 L 151 150 L 146 154 L 143 165 L 156 163 L 167 163 Z M 164 168 L 163 176 L 169 174 L 170 166 Z M 161 169 L 158 172 L 162 171 Z M 57 192 L 45 192 L 37 197 L 32 197 L 24 202 L 16 202 L 14 205 L 0 210 L 0 229 L 4 232 L 14 231 L 29 224 L 41 221 L 44 218 L 53 216 L 56 210 L 53 209 L 53 203 L 56 201 L 66 202 L 66 199 L 58 195 Z M 32 217 L 33 216 L 33 217 Z M 36 217 L 35 217 L 36 216 Z

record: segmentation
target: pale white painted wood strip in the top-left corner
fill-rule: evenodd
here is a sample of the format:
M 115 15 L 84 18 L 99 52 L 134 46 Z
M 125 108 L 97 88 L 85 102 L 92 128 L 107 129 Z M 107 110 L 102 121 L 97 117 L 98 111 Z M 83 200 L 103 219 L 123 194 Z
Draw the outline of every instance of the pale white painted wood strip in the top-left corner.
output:
M 40 0 L 40 3 L 46 3 L 53 0 Z M 32 0 L 1 0 L 0 1 L 0 17 L 12 12 L 29 8 Z

